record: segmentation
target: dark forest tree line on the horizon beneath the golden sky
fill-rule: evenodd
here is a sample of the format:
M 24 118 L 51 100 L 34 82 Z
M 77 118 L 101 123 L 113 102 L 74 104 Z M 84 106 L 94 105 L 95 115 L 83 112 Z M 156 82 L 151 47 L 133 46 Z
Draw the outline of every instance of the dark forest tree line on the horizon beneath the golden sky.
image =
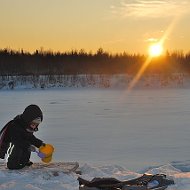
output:
M 95 53 L 84 50 L 53 52 L 0 49 L 0 75 L 79 75 L 79 74 L 136 74 L 146 61 L 143 54 L 126 52 L 110 54 L 99 48 Z M 190 53 L 166 52 L 152 58 L 145 74 L 190 72 Z

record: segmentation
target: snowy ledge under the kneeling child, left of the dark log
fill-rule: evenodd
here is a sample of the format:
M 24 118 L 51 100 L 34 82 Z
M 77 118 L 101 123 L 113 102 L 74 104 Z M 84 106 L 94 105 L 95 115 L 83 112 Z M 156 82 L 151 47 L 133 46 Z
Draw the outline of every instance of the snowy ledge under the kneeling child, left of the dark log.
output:
M 54 165 L 54 167 L 53 167 Z M 50 164 L 42 167 L 42 164 L 34 164 L 21 170 L 8 170 L 1 164 L 0 189 L 14 190 L 41 190 L 41 189 L 78 189 L 77 174 L 71 171 L 74 164 Z M 56 168 L 57 166 L 57 168 Z M 68 166 L 68 165 L 67 165 Z

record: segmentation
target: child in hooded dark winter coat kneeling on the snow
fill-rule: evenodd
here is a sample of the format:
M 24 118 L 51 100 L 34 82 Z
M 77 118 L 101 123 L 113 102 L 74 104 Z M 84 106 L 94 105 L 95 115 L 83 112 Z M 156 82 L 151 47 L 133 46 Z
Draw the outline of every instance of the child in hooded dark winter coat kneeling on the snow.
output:
M 7 154 L 7 167 L 21 169 L 30 166 L 31 146 L 44 146 L 42 140 L 34 136 L 38 125 L 43 120 L 41 109 L 37 105 L 29 105 L 21 115 L 9 121 L 0 132 L 0 158 Z

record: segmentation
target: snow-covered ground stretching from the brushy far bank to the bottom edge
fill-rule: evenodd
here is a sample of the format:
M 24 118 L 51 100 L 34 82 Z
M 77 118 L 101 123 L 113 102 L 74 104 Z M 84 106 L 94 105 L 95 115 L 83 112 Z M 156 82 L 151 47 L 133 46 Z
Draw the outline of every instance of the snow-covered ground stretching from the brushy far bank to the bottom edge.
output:
M 32 103 L 44 112 L 36 136 L 55 146 L 54 161 L 78 161 L 82 177 L 166 173 L 168 189 L 190 189 L 190 89 L 2 90 L 0 126 Z M 53 188 L 78 189 L 77 174 L 0 171 L 0 189 Z

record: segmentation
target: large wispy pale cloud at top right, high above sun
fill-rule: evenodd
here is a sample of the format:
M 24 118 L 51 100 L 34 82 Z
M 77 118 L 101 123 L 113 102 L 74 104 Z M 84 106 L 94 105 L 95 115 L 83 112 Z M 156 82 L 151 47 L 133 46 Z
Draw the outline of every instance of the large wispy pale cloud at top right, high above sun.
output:
M 181 16 L 186 14 L 189 9 L 189 0 L 122 0 L 119 6 L 111 6 L 112 13 L 123 18 Z

